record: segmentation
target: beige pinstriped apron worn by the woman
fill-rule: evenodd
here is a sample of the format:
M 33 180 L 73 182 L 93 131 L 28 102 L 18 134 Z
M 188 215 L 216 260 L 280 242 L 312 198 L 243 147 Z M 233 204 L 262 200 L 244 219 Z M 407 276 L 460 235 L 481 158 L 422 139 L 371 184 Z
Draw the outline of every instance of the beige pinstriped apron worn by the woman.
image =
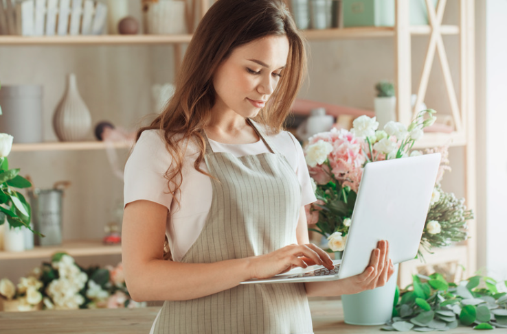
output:
M 205 163 L 215 178 L 212 206 L 181 262 L 253 257 L 297 243 L 300 183 L 285 156 L 249 123 L 271 152 L 215 153 L 204 135 Z M 157 334 L 313 333 L 304 283 L 238 285 L 203 298 L 166 301 L 154 327 Z

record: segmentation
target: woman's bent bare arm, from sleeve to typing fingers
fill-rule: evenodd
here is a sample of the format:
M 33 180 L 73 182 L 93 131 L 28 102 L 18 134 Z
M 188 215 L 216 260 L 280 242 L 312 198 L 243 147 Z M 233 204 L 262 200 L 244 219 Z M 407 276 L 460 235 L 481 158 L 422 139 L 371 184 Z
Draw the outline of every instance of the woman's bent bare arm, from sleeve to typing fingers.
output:
M 305 245 L 269 254 L 215 263 L 179 263 L 163 259 L 167 208 L 146 200 L 127 204 L 122 227 L 125 281 L 133 300 L 190 300 L 236 287 L 250 278 L 269 278 L 304 266 L 303 257 L 322 263 Z

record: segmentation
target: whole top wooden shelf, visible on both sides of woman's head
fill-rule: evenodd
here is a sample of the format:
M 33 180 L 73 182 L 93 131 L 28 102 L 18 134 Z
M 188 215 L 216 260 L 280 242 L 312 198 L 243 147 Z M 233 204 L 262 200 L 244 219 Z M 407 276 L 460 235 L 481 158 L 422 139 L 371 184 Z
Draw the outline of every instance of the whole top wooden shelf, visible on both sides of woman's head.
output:
M 413 25 L 411 34 L 429 35 L 429 25 Z M 459 34 L 457 25 L 442 25 L 442 34 Z M 308 40 L 336 38 L 393 37 L 394 27 L 350 27 L 341 29 L 304 30 Z M 191 34 L 185 35 L 86 35 L 86 36 L 0 36 L 0 45 L 164 45 L 189 43 Z

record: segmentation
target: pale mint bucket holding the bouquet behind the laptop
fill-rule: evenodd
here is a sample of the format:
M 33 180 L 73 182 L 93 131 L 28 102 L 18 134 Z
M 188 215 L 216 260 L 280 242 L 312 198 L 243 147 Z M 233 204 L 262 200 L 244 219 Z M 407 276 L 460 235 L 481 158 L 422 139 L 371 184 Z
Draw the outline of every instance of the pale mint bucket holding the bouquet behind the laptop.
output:
M 394 274 L 383 287 L 341 296 L 345 322 L 376 326 L 389 321 L 392 318 L 397 279 L 398 264 L 394 265 Z

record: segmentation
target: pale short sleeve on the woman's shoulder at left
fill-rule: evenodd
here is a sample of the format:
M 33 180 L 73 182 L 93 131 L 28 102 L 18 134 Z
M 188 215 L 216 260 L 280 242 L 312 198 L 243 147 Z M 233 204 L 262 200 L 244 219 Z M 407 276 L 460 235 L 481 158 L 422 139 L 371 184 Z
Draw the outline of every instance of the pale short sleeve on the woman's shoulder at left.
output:
M 164 174 L 171 155 L 157 130 L 145 130 L 139 136 L 124 170 L 124 207 L 136 200 L 148 200 L 170 210 L 172 193 Z

